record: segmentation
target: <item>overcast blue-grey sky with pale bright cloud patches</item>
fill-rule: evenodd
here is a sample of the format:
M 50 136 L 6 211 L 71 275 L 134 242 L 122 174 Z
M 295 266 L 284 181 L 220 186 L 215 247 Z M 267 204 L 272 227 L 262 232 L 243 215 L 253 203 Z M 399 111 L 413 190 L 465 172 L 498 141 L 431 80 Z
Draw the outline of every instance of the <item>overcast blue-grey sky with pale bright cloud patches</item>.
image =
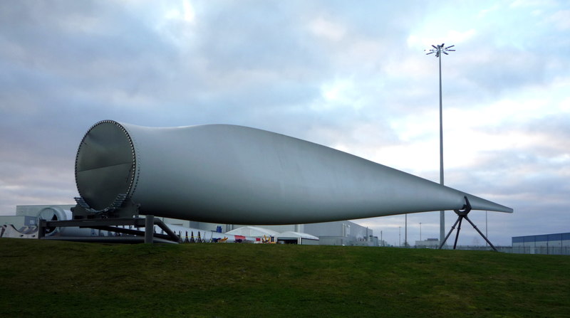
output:
M 0 215 L 74 203 L 100 120 L 257 127 L 438 182 L 440 43 L 445 184 L 514 208 L 487 213 L 496 245 L 570 232 L 566 0 L 0 1 Z M 404 216 L 356 222 L 404 240 Z M 439 237 L 415 213 L 410 242 L 420 222 Z

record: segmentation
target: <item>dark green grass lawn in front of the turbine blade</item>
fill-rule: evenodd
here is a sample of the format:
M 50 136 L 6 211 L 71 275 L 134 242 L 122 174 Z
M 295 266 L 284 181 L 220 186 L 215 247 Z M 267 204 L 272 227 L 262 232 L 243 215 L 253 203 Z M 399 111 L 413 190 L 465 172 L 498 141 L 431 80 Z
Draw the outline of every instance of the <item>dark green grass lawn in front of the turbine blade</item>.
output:
M 570 317 L 570 258 L 3 238 L 0 317 Z

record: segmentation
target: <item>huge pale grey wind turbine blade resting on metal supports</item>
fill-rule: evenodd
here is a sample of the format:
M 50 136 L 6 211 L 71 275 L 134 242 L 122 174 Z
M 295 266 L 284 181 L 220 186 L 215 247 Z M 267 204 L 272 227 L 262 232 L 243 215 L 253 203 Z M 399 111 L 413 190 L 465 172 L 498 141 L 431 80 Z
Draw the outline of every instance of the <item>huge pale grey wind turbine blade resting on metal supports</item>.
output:
M 140 214 L 228 224 L 455 210 L 465 196 L 472 209 L 512 212 L 346 152 L 228 124 L 165 128 L 105 120 L 89 129 L 76 158 L 81 197 L 120 217 L 132 211 L 113 203 L 118 194 Z

